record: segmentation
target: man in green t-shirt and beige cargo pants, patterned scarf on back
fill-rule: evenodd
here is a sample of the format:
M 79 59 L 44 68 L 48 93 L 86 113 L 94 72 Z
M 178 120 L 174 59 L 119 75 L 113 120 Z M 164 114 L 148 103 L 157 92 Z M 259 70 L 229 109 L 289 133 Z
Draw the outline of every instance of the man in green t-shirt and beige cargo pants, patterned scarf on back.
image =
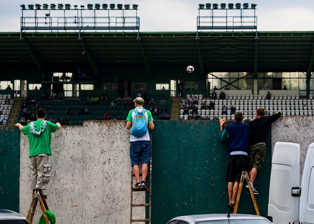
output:
M 55 132 L 61 127 L 60 123 L 53 124 L 46 121 L 46 111 L 38 109 L 36 111 L 37 121 L 30 122 L 23 127 L 20 123 L 14 126 L 24 135 L 28 136 L 30 142 L 30 189 L 46 190 L 50 179 L 50 142 L 51 132 Z

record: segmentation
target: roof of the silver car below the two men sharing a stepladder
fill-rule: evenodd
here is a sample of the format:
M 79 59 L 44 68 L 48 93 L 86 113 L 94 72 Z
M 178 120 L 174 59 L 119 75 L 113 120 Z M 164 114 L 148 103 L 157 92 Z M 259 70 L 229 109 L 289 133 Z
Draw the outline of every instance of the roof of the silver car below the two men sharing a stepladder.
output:
M 177 219 L 191 219 L 194 222 L 196 221 L 210 221 L 210 220 L 227 220 L 227 219 L 266 219 L 262 216 L 257 215 L 248 215 L 248 214 L 230 214 L 230 217 L 227 217 L 227 214 L 203 214 L 203 215 L 191 215 L 191 216 L 178 216 L 171 220 Z

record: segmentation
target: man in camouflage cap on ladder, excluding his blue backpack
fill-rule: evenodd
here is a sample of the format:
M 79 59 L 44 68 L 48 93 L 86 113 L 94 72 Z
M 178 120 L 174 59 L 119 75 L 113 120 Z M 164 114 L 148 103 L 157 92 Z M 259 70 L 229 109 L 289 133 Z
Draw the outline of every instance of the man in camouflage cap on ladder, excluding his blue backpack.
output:
M 133 102 L 135 103 L 135 109 L 138 112 L 142 112 L 144 110 L 143 104 L 144 99 L 141 97 L 136 97 Z M 144 112 L 146 116 L 146 126 L 150 130 L 154 130 L 154 122 L 152 114 L 149 110 Z M 134 109 L 130 110 L 127 116 L 127 130 L 132 128 L 132 125 L 135 125 L 136 122 L 133 122 L 135 116 Z M 136 179 L 136 184 L 133 187 L 133 190 L 146 190 L 147 186 L 145 183 L 145 179 L 148 173 L 148 165 L 150 159 L 150 138 L 149 132 L 147 130 L 146 134 L 142 137 L 136 137 L 131 135 L 130 137 L 130 159 L 131 159 L 131 166 L 133 167 L 134 176 Z M 139 163 L 142 163 L 142 182 L 139 179 Z

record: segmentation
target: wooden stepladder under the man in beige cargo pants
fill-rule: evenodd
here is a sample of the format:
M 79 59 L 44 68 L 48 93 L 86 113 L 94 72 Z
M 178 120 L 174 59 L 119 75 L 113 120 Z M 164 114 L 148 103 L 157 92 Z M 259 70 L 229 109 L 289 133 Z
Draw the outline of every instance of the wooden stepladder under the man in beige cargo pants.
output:
M 30 224 L 33 223 L 37 203 L 39 202 L 41 212 L 44 216 L 46 224 L 50 224 L 50 221 L 48 220 L 46 210 L 49 210 L 47 202 L 46 202 L 47 196 L 43 194 L 42 190 L 35 190 L 33 193 L 32 201 L 30 203 L 30 209 L 28 210 L 26 219 L 29 221 Z

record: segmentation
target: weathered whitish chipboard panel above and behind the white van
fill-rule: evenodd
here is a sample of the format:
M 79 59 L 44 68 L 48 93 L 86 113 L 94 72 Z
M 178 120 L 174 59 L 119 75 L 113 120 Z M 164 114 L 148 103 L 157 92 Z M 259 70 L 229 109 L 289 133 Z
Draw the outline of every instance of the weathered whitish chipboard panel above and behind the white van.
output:
M 272 125 L 272 151 L 276 142 L 292 142 L 300 145 L 300 184 L 306 152 L 314 142 L 314 116 L 281 116 Z

